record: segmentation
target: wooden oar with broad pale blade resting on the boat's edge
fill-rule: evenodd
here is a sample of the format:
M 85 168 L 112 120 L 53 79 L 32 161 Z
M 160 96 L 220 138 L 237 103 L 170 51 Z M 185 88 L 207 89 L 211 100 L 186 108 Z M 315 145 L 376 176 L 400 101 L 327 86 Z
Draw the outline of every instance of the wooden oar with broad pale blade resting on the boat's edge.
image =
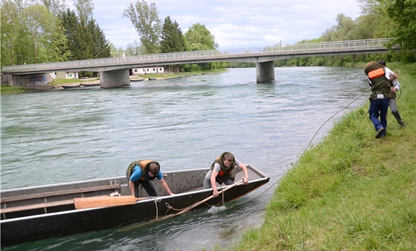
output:
M 74 198 L 73 204 L 75 205 L 75 209 L 86 209 L 94 207 L 134 205 L 137 201 L 145 199 L 150 199 L 150 197 L 136 198 L 134 196 L 95 196 L 86 198 Z

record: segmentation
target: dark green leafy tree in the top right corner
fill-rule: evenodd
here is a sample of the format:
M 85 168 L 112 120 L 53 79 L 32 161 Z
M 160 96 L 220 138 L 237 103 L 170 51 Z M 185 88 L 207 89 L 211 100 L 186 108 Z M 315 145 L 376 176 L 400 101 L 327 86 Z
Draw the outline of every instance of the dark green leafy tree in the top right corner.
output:
M 392 35 L 404 50 L 416 49 L 416 1 L 395 0 L 387 9 L 388 16 L 397 23 Z M 416 55 L 416 53 L 415 53 Z

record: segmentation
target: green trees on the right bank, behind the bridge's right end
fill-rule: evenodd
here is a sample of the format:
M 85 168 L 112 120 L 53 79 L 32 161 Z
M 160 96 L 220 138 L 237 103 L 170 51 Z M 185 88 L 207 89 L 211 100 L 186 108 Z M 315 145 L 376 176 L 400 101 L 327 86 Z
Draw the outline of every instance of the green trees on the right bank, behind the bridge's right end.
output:
M 319 56 L 275 61 L 275 66 L 345 66 L 356 61 L 416 62 L 416 2 L 414 0 L 358 0 L 361 16 L 353 20 L 338 14 L 336 24 L 319 38 L 298 44 L 331 41 L 395 38 L 385 54 Z M 276 44 L 278 46 L 278 44 Z M 400 52 L 397 52 L 399 49 Z M 254 67 L 254 63 L 229 63 L 227 67 Z

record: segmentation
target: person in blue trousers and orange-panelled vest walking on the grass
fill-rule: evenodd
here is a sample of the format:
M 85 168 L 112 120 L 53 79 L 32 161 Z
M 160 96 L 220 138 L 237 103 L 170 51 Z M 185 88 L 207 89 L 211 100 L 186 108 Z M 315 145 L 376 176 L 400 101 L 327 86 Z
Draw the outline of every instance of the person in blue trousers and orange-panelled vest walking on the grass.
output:
M 387 109 L 390 103 L 391 84 L 386 78 L 383 66 L 379 63 L 369 62 L 364 69 L 364 73 L 367 75 L 368 83 L 371 86 L 368 113 L 376 130 L 375 137 L 379 139 L 386 135 Z

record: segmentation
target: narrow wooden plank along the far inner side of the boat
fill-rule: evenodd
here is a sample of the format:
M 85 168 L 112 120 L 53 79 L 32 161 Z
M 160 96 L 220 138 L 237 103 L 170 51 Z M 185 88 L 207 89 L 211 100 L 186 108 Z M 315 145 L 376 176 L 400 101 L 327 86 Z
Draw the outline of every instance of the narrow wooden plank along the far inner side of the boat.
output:
M 77 189 L 54 191 L 54 192 L 34 193 L 34 194 L 1 198 L 0 202 L 4 203 L 4 202 L 11 202 L 11 201 L 45 198 L 45 197 L 66 195 L 66 194 L 87 193 L 87 192 L 94 192 L 94 191 L 100 191 L 100 190 L 119 189 L 119 188 L 120 188 L 120 184 L 114 184 L 114 185 L 77 188 Z

